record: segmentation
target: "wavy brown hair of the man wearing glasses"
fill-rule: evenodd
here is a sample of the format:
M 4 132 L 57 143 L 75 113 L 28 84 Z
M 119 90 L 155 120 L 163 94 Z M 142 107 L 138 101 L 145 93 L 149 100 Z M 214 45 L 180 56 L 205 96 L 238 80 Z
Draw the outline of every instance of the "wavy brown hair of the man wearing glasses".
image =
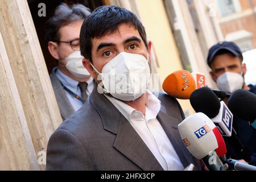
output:
M 59 41 L 59 30 L 61 27 L 76 22 L 77 20 L 84 20 L 90 15 L 90 9 L 81 4 L 75 4 L 69 7 L 65 3 L 56 7 L 55 14 L 46 22 L 46 40 Z

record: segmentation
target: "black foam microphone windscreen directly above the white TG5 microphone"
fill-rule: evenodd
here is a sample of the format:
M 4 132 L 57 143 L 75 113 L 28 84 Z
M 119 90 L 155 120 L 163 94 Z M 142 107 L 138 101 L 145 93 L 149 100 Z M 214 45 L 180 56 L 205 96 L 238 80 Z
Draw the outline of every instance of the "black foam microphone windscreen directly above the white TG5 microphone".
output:
M 204 113 L 209 118 L 216 117 L 220 111 L 220 101 L 216 94 L 208 87 L 195 90 L 189 100 L 197 113 Z

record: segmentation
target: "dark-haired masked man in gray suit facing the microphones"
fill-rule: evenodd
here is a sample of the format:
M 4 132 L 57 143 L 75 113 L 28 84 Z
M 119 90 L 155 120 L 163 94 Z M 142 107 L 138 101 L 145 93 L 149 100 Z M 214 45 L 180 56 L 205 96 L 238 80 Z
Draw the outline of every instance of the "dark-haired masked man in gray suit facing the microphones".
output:
M 82 25 L 80 47 L 98 86 L 49 139 L 46 169 L 201 169 L 177 130 L 184 119 L 177 100 L 147 90 L 151 42 L 137 16 L 98 7 Z

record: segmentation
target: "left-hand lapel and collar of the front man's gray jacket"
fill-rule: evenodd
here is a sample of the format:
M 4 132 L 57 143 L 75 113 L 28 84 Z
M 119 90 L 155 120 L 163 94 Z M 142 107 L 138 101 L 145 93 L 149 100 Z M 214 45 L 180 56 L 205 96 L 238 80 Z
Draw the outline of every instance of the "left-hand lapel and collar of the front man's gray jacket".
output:
M 90 101 L 100 114 L 104 129 L 117 135 L 113 144 L 115 149 L 144 171 L 163 170 L 129 121 L 103 94 L 97 92 L 97 86 L 90 95 Z

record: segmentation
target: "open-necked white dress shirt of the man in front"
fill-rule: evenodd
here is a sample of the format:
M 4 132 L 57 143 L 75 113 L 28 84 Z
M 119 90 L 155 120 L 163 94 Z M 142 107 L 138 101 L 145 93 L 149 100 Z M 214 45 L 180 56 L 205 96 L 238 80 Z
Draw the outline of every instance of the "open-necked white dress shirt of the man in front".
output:
M 165 171 L 184 169 L 179 156 L 156 118 L 161 105 L 154 94 L 147 90 L 146 115 L 114 97 L 106 96 L 106 98 L 130 122 Z

